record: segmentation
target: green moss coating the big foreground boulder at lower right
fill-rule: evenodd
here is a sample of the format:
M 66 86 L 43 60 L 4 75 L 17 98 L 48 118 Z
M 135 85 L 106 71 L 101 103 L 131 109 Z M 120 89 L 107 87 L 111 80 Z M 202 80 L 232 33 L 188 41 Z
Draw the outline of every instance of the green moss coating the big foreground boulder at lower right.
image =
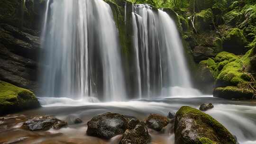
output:
M 219 144 L 220 142 L 221 144 L 236 144 L 235 139 L 224 126 L 210 115 L 205 114 L 198 109 L 189 106 L 181 107 L 176 113 L 174 129 L 177 128 L 176 120 L 178 117 L 191 117 L 196 125 L 201 126 L 199 129 L 205 130 L 203 134 L 199 133 L 196 142 L 191 144 Z M 213 129 L 213 131 L 211 131 L 211 129 Z M 218 141 L 215 142 L 213 139 Z

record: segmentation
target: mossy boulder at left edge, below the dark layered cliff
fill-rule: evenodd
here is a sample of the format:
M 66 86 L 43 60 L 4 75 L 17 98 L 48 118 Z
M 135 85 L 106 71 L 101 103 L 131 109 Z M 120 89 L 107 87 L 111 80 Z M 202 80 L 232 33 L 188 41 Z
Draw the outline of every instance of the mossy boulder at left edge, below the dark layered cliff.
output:
M 0 115 L 38 107 L 40 104 L 33 92 L 0 81 Z

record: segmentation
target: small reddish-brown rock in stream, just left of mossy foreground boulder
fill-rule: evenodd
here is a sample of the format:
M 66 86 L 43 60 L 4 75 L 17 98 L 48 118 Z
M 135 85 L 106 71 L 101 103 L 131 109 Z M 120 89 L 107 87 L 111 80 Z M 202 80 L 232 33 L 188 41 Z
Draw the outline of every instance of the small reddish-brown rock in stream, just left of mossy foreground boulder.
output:
M 168 123 L 169 119 L 167 117 L 158 114 L 150 114 L 146 119 L 146 126 L 156 131 L 161 131 Z

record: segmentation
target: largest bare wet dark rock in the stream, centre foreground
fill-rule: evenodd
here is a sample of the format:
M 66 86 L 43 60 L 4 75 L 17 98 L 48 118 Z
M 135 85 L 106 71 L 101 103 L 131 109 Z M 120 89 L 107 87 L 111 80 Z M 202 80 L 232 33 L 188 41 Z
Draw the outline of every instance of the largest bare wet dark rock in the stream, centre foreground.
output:
M 88 123 L 87 135 L 110 139 L 125 132 L 128 122 L 123 115 L 105 113 L 93 117 Z

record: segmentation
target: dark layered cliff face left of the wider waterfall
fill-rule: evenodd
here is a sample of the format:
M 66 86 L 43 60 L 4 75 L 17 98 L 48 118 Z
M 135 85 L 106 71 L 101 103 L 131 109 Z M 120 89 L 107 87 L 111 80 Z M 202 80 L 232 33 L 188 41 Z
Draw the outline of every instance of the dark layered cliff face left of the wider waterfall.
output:
M 0 80 L 37 91 L 44 3 L 34 1 L 0 2 Z

